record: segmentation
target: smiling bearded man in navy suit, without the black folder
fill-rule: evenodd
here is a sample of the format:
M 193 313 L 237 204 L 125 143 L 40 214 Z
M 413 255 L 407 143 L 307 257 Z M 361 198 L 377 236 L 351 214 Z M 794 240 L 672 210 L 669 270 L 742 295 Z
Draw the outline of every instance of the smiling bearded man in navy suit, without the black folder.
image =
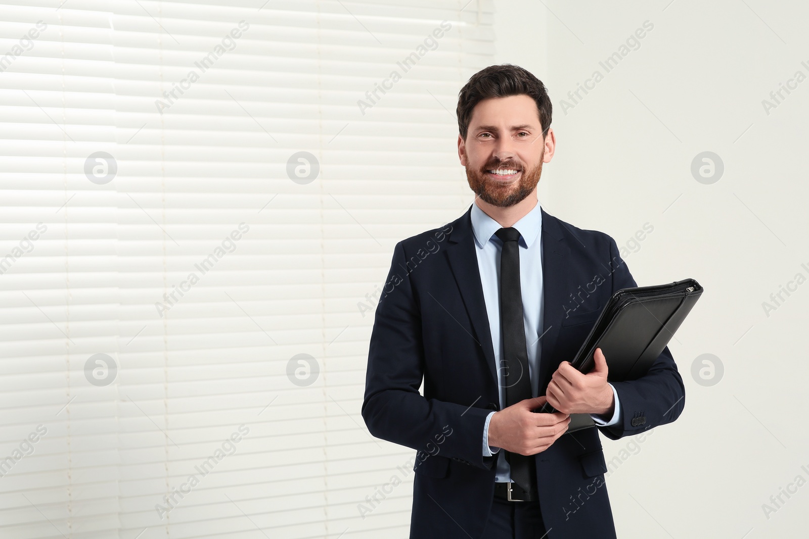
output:
M 417 449 L 413 538 L 616 537 L 596 428 L 617 440 L 683 411 L 668 347 L 635 381 L 608 383 L 600 350 L 591 373 L 570 366 L 612 293 L 637 284 L 608 234 L 540 208 L 551 112 L 525 69 L 473 75 L 458 154 L 477 196 L 394 249 L 362 417 L 374 436 Z M 558 412 L 534 413 L 544 402 Z M 595 427 L 566 432 L 571 414 Z

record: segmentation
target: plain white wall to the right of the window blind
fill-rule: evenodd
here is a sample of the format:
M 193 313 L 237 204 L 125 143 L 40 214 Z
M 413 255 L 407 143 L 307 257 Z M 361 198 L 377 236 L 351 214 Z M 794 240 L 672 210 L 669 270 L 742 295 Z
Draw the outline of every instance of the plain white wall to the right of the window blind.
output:
M 544 3 L 497 2 L 495 17 L 497 60 L 538 69 L 553 99 L 557 154 L 543 168 L 541 203 L 619 246 L 649 223 L 626 258 L 637 283 L 693 277 L 705 288 L 670 344 L 683 415 L 642 444 L 603 439 L 608 461 L 631 455 L 607 482 L 618 537 L 799 537 L 809 487 L 782 495 L 780 508 L 769 498 L 798 475 L 809 480 L 798 423 L 809 404 L 809 284 L 793 284 L 769 316 L 762 302 L 796 274 L 809 278 L 809 82 L 769 114 L 762 100 L 796 71 L 809 76 L 807 6 Z M 538 11 L 533 32 L 532 17 L 515 17 Z M 645 21 L 654 28 L 607 73 L 599 61 Z M 595 89 L 568 99 L 596 69 Z M 574 105 L 566 114 L 562 99 Z M 712 184 L 690 171 L 704 151 L 724 163 Z M 724 366 L 715 385 L 692 375 L 702 354 Z M 768 518 L 764 503 L 777 512 Z

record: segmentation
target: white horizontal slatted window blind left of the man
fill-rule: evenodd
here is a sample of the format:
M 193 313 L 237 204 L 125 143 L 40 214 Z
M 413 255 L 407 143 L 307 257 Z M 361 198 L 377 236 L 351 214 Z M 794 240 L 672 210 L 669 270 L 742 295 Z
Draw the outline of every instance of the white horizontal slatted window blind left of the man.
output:
M 367 339 L 491 11 L 0 6 L 0 537 L 407 537 Z

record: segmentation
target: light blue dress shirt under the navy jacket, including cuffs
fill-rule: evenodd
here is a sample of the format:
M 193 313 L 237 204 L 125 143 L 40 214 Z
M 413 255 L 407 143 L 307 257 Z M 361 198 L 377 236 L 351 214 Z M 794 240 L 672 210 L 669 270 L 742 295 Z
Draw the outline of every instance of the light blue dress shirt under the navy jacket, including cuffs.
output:
M 502 342 L 500 335 L 500 251 L 502 241 L 494 235 L 502 227 L 498 221 L 472 203 L 472 231 L 475 234 L 475 251 L 477 252 L 477 266 L 481 272 L 483 297 L 486 303 L 486 313 L 489 317 L 489 328 L 492 332 L 492 345 L 494 348 L 494 364 L 498 373 L 498 394 L 500 409 L 506 407 L 506 392 L 503 390 L 504 380 L 500 372 L 500 358 L 502 357 Z M 531 393 L 533 397 L 539 394 L 539 365 L 541 357 L 540 335 L 542 335 L 543 316 L 543 278 L 542 278 L 542 242 L 540 230 L 542 229 L 542 213 L 540 203 L 522 219 L 517 221 L 514 228 L 519 230 L 519 286 L 523 295 L 523 318 L 525 323 L 525 343 L 528 352 L 528 371 L 531 377 Z M 612 387 L 612 384 L 610 384 Z M 599 426 L 608 426 L 618 423 L 621 417 L 618 394 L 612 387 L 615 398 L 615 412 L 612 419 L 604 421 L 598 415 L 591 414 L 593 421 Z M 498 453 L 496 474 L 497 482 L 510 481 L 509 464 L 506 462 L 505 452 L 500 448 L 489 446 L 489 421 L 494 415 L 492 411 L 486 417 L 483 427 L 483 456 L 491 457 Z

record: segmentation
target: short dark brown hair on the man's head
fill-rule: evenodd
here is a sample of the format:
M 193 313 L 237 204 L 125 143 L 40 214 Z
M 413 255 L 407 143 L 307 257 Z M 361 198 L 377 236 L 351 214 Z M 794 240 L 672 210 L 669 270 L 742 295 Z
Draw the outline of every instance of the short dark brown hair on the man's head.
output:
M 534 99 L 536 108 L 540 112 L 540 124 L 542 124 L 542 137 L 544 138 L 551 126 L 551 112 L 553 112 L 548 90 L 542 81 L 530 71 L 519 65 L 511 64 L 489 65 L 473 74 L 460 89 L 458 107 L 455 109 L 460 136 L 466 140 L 469 120 L 472 119 L 472 109 L 477 103 L 484 99 L 509 95 L 528 95 Z

